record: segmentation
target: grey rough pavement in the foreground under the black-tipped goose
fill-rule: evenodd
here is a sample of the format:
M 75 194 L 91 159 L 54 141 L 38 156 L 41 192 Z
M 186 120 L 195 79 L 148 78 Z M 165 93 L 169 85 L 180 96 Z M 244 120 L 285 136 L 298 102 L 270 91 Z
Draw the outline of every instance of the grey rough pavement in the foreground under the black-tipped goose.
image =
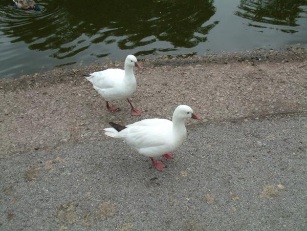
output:
M 188 127 L 163 172 L 122 141 L 0 162 L 1 230 L 306 230 L 307 115 Z

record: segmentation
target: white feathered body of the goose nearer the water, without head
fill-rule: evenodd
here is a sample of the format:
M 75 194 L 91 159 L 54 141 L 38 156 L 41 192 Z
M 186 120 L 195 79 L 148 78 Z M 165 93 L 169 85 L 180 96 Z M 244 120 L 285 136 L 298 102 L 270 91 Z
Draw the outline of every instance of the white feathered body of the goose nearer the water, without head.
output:
M 87 80 L 93 83 L 94 89 L 106 100 L 122 100 L 130 97 L 137 89 L 133 70 L 107 69 L 92 73 Z

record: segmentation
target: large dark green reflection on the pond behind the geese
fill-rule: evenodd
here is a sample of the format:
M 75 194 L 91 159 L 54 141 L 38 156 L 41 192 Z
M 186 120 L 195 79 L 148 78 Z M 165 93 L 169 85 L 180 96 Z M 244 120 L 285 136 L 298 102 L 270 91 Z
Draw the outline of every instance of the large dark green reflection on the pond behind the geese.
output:
M 121 50 L 145 47 L 136 55 L 191 48 L 206 41 L 217 22 L 205 25 L 215 13 L 213 0 L 173 1 L 37 1 L 41 11 L 23 11 L 13 6 L 0 11 L 0 30 L 24 41 L 31 50 L 52 51 L 50 56 L 67 59 L 94 44 Z M 167 41 L 165 48 L 148 48 Z M 108 49 L 104 49 L 108 50 Z M 109 53 L 96 52 L 97 57 Z

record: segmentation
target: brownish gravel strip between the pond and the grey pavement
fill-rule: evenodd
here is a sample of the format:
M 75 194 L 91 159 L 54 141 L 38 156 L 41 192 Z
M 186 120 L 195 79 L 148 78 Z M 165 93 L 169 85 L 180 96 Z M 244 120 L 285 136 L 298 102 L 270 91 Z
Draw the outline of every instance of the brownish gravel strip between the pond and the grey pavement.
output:
M 170 119 L 179 104 L 192 107 L 206 123 L 307 108 L 303 49 L 164 57 L 140 64 L 133 96 L 136 107 L 144 110 L 140 117 L 130 115 L 126 101 L 111 102 L 121 111 L 106 111 L 104 100 L 85 79 L 94 71 L 123 68 L 123 61 L 1 80 L 0 156 L 106 139 L 101 130 L 109 121 Z

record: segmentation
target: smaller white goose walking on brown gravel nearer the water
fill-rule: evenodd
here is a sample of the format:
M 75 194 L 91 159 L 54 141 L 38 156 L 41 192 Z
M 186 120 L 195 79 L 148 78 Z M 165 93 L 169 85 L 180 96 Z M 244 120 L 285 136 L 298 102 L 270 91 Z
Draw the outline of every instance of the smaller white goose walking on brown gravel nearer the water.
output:
M 90 74 L 87 80 L 93 83 L 94 89 L 106 100 L 108 111 L 116 111 L 117 107 L 110 107 L 108 101 L 127 99 L 131 106 L 131 115 L 141 115 L 141 109 L 133 107 L 129 97 L 137 89 L 137 80 L 133 68 L 141 68 L 134 55 L 128 55 L 125 60 L 125 70 L 107 69 Z

